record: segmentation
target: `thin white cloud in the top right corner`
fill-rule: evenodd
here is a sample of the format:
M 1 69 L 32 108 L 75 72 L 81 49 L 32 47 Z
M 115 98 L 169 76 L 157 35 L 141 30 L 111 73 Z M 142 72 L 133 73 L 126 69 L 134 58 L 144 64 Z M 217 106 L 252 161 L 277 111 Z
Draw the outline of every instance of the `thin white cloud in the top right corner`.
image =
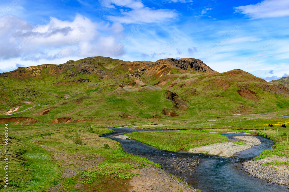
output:
M 257 4 L 234 7 L 235 11 L 253 19 L 289 16 L 288 0 L 265 0 Z

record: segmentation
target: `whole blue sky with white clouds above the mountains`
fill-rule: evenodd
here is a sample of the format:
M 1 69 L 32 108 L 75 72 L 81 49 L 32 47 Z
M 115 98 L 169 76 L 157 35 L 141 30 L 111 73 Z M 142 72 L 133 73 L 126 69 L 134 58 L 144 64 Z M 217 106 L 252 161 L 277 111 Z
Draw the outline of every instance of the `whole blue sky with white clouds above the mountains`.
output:
M 289 76 L 287 0 L 2 0 L 0 72 L 89 56 Z

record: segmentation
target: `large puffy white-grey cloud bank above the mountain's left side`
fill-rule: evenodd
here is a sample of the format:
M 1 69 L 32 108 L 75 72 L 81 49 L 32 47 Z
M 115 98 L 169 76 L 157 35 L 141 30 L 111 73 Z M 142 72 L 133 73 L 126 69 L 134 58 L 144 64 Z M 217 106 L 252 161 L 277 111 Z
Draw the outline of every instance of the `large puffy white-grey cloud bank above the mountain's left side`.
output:
M 0 17 L 0 60 L 55 60 L 69 56 L 119 56 L 123 26 L 92 22 L 81 15 L 73 21 L 51 17 L 37 26 L 13 15 Z

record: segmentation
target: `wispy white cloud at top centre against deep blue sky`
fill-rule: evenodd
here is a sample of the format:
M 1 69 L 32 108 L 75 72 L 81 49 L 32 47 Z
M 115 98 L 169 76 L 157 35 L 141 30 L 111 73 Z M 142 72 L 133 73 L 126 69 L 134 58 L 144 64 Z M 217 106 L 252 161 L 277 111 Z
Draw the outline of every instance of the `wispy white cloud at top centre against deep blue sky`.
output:
M 145 6 L 142 1 L 138 0 L 103 0 L 103 6 L 115 8 L 114 5 L 120 7 L 128 7 L 129 10 L 120 9 L 121 16 L 106 16 L 113 22 L 132 24 L 132 23 L 153 23 L 161 22 L 177 17 L 177 12 L 171 9 L 151 9 Z

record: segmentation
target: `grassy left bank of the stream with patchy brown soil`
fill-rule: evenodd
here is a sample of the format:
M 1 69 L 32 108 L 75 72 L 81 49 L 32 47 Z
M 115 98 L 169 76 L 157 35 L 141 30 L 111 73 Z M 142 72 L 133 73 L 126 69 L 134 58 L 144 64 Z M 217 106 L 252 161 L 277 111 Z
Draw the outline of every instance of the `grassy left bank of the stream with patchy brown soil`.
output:
M 68 191 L 123 191 L 134 176 L 129 170 L 143 168 L 145 163 L 160 167 L 123 152 L 116 141 L 99 137 L 111 129 L 92 128 L 93 133 L 89 127 L 10 126 L 8 191 L 43 192 L 58 184 L 59 190 Z M 73 143 L 71 136 L 75 135 L 83 140 L 82 145 Z M 1 150 L 2 157 L 3 153 Z M 5 166 L 3 159 L 0 166 Z M 61 170 L 77 172 L 64 177 Z M 0 191 L 7 191 L 3 186 L 1 180 Z

